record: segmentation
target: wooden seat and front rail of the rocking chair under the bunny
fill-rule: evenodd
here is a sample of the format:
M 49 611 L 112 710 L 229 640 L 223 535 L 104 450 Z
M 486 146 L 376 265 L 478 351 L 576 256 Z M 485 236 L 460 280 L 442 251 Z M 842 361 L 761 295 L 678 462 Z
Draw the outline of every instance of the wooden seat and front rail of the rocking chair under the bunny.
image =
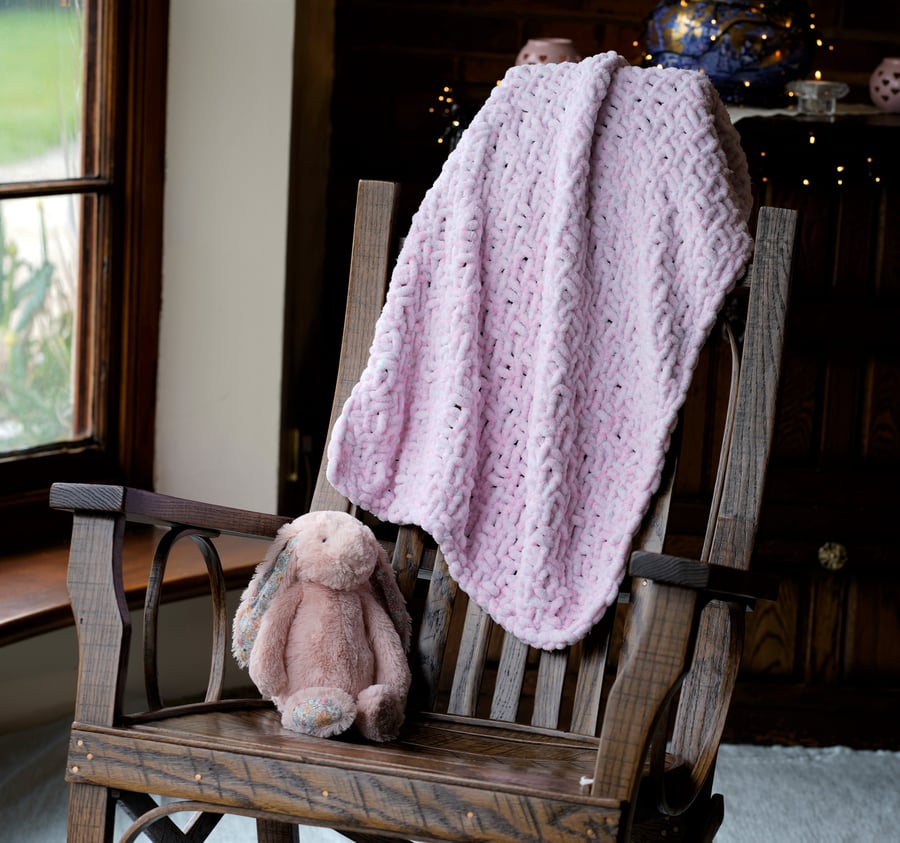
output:
M 338 829 L 365 817 L 417 839 L 441 828 L 452 840 L 479 831 L 498 843 L 546 840 L 552 829 L 614 840 L 621 806 L 582 784 L 596 752 L 593 737 L 447 715 L 410 721 L 386 744 L 313 738 L 283 729 L 273 709 L 251 708 L 111 728 L 76 723 L 68 778 Z M 416 810 L 379 819 L 380 806 L 401 799 Z

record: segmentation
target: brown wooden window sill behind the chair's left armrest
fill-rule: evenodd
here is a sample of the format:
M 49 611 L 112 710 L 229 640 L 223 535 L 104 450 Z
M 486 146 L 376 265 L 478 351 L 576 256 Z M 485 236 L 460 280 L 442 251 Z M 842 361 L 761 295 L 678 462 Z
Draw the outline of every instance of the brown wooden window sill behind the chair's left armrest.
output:
M 123 580 L 130 608 L 141 608 L 161 530 L 129 527 L 123 542 Z M 267 542 L 221 536 L 216 548 L 229 589 L 244 588 Z M 73 623 L 66 588 L 68 545 L 0 556 L 0 646 Z M 208 593 L 206 566 L 190 541 L 176 542 L 166 565 L 163 600 Z

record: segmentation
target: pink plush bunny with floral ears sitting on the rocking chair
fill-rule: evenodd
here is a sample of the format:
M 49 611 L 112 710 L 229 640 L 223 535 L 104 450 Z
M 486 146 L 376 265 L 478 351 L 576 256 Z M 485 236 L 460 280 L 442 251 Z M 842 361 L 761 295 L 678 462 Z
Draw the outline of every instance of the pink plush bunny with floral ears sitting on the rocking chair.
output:
M 285 524 L 241 597 L 234 655 L 287 729 L 329 737 L 354 723 L 397 736 L 409 691 L 410 619 L 375 535 L 345 512 Z

